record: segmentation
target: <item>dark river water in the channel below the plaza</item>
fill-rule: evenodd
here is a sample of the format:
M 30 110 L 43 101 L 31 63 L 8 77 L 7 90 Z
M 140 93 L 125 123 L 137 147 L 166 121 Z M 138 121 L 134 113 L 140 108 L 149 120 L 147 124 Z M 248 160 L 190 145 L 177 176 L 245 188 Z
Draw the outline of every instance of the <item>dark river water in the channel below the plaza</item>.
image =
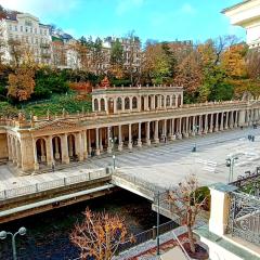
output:
M 16 232 L 21 226 L 27 229 L 25 236 L 16 236 L 17 259 L 20 260 L 72 260 L 79 253 L 69 242 L 69 233 L 77 221 L 82 221 L 86 207 L 92 211 L 120 214 L 126 219 L 130 233 L 138 234 L 156 224 L 156 213 L 151 203 L 127 191 L 82 202 L 68 207 L 21 219 L 0 225 L 0 231 Z M 168 219 L 160 218 L 160 223 Z M 0 260 L 11 260 L 11 236 L 0 240 Z

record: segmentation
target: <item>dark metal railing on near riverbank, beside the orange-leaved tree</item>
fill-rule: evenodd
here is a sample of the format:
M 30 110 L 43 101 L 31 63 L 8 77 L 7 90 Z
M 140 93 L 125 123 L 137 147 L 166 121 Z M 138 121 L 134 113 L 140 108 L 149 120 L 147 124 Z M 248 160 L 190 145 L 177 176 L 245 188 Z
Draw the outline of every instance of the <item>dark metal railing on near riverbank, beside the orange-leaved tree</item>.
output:
M 166 222 L 164 224 L 159 225 L 159 235 L 165 234 L 173 229 L 176 229 L 178 226 L 178 224 L 174 221 L 169 221 Z M 139 233 L 136 235 L 134 235 L 134 242 L 131 240 L 127 240 L 122 244 L 119 245 L 117 252 L 121 252 L 125 250 L 128 250 L 134 246 L 138 246 L 142 243 L 148 242 L 151 239 L 155 239 L 156 238 L 156 227 L 154 229 L 150 229 L 147 231 L 144 231 L 142 233 Z

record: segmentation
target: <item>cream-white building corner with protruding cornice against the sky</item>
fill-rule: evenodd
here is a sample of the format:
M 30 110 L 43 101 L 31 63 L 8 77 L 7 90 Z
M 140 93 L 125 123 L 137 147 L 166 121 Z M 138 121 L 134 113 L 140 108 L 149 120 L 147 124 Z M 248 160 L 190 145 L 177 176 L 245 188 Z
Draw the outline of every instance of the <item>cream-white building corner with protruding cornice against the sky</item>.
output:
M 222 11 L 232 25 L 242 26 L 247 32 L 249 48 L 260 47 L 260 0 L 245 0 Z

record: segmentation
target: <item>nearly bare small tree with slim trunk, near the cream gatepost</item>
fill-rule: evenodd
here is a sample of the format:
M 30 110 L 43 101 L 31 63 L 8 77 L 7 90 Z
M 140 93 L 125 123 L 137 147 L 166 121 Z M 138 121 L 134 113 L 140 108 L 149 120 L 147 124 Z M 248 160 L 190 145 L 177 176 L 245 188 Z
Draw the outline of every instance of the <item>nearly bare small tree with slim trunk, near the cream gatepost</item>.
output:
M 198 188 L 197 178 L 191 174 L 185 181 L 180 182 L 178 187 L 168 192 L 168 199 L 172 205 L 172 213 L 178 214 L 182 224 L 187 227 L 187 236 L 192 252 L 195 252 L 192 229 L 207 200 L 207 197 L 202 197 L 200 193 L 197 193 Z

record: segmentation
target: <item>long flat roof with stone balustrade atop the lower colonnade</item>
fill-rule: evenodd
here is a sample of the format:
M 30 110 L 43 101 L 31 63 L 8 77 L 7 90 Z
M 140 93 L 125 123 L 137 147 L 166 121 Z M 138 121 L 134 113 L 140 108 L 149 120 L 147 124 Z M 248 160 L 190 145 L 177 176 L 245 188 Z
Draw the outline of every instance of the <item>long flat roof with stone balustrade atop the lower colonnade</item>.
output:
M 136 122 L 136 121 L 151 121 L 151 120 L 161 120 L 173 117 L 185 117 L 199 114 L 212 114 L 221 113 L 225 110 L 235 110 L 235 109 L 249 109 L 249 108 L 259 108 L 260 102 L 247 102 L 247 101 L 229 101 L 229 102 L 210 102 L 210 103 L 200 103 L 200 104 L 186 104 L 177 108 L 167 108 L 167 109 L 156 109 L 147 112 L 127 112 L 107 115 L 105 113 L 79 113 L 76 115 L 61 115 L 61 116 L 48 116 L 48 117 L 34 117 L 31 120 L 26 120 L 25 118 L 0 118 L 0 127 L 17 128 L 21 130 L 37 130 L 40 126 L 46 126 L 51 128 L 51 122 L 57 122 L 55 127 L 76 127 L 76 126 L 89 126 L 95 127 L 100 125 L 115 125 L 115 123 L 125 123 L 125 122 Z M 54 126 L 53 126 L 54 127 Z

